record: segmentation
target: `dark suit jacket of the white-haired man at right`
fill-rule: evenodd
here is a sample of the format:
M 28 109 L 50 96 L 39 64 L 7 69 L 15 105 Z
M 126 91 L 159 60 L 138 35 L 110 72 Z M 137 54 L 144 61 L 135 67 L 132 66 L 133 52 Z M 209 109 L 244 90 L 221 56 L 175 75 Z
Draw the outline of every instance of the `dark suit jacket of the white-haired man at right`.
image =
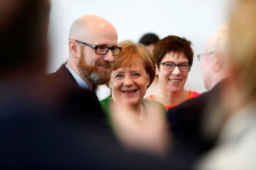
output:
M 212 90 L 168 110 L 167 118 L 174 141 L 172 155 L 180 156 L 180 161 L 188 159 L 188 162 L 193 162 L 216 142 L 216 138 L 204 137 L 201 133 L 201 123 L 205 110 L 212 104 L 212 99 L 218 99 L 222 83 L 223 80 Z

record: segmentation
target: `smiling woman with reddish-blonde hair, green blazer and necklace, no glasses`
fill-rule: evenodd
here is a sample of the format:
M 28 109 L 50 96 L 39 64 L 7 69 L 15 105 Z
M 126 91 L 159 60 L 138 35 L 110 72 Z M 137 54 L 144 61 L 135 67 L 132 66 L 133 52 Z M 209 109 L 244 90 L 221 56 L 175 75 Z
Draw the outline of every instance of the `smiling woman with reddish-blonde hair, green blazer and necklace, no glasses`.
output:
M 110 116 L 110 101 L 122 103 L 133 110 L 133 117 L 146 119 L 148 105 L 157 105 L 160 113 L 166 113 L 164 106 L 157 101 L 143 99 L 147 88 L 155 77 L 155 63 L 146 47 L 131 41 L 118 44 L 121 53 L 115 57 L 108 87 L 110 96 L 101 100 L 102 110 Z

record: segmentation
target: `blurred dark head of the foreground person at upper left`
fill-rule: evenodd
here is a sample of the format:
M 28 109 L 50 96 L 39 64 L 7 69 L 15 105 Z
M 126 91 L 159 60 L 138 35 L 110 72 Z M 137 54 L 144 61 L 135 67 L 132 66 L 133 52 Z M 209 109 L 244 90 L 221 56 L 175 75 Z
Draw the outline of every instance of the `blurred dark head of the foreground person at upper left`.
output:
M 2 75 L 44 73 L 49 5 L 47 0 L 0 2 Z

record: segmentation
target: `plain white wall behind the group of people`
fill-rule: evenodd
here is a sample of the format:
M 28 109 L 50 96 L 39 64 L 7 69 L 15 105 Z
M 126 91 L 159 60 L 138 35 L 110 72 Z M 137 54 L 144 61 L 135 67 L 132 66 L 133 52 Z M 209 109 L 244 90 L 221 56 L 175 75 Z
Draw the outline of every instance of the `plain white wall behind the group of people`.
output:
M 68 33 L 73 21 L 82 15 L 95 14 L 109 20 L 118 32 L 118 41 L 133 40 L 147 32 L 160 38 L 184 36 L 193 43 L 192 69 L 185 88 L 206 91 L 201 64 L 196 55 L 204 53 L 210 37 L 227 22 L 233 0 L 52 0 L 49 23 L 50 59 L 48 73 L 56 71 L 68 58 Z

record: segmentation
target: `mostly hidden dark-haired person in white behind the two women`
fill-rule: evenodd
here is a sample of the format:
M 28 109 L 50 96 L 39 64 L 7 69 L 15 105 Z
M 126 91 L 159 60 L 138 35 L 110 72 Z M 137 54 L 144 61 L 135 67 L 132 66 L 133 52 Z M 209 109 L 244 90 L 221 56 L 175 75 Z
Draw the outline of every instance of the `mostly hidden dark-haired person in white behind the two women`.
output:
M 139 43 L 146 46 L 151 56 L 153 56 L 153 49 L 155 47 L 156 42 L 158 41 L 159 41 L 159 37 L 155 33 L 146 33 L 141 37 L 141 39 L 139 39 Z M 147 88 L 145 96 L 156 95 L 159 93 L 160 93 L 159 80 L 158 80 L 158 77 L 155 76 L 150 87 Z

